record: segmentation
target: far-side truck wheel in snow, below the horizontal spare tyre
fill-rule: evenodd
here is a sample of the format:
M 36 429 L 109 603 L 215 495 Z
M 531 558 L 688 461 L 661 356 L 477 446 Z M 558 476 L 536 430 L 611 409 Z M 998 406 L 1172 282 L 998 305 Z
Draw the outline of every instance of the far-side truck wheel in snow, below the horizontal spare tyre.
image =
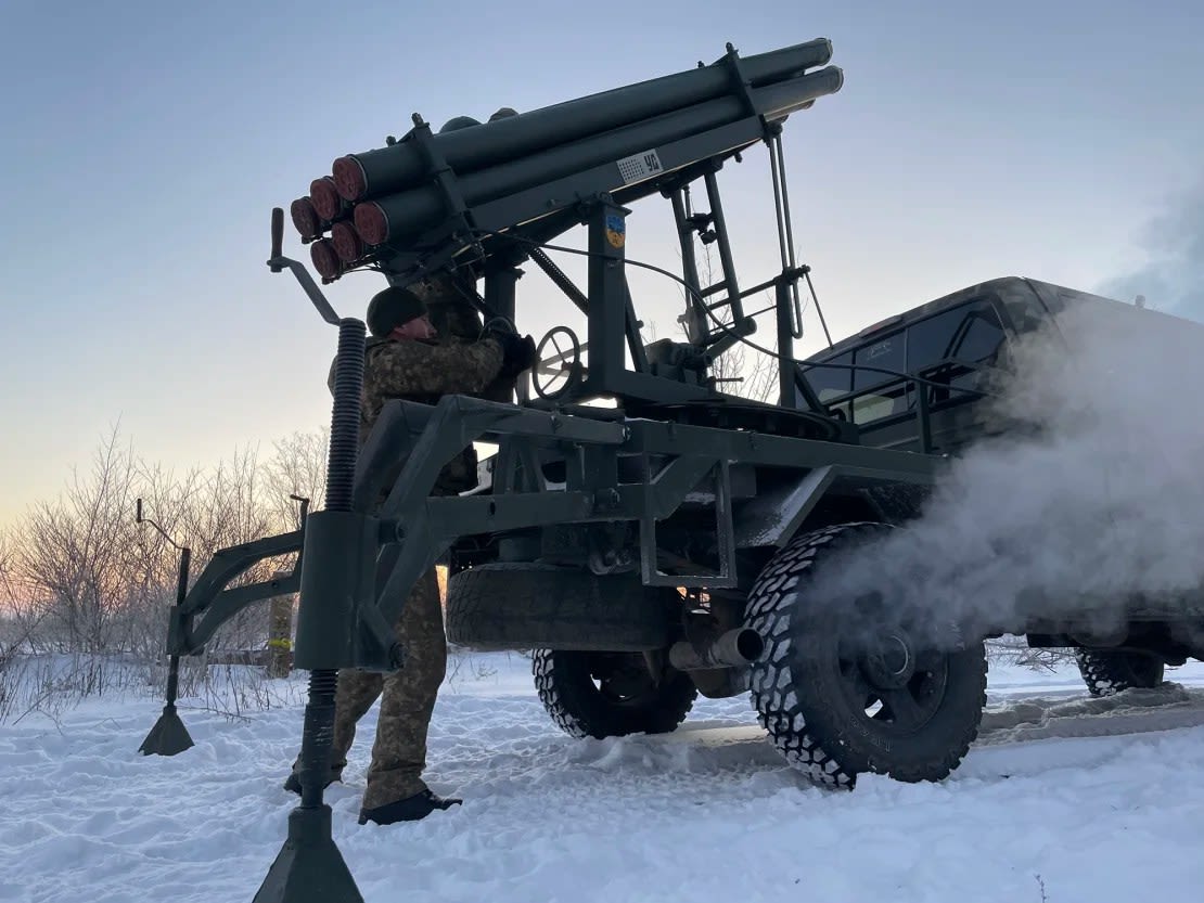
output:
M 668 733 L 698 695 L 680 671 L 656 685 L 641 653 L 537 649 L 531 673 L 551 720 L 579 739 Z

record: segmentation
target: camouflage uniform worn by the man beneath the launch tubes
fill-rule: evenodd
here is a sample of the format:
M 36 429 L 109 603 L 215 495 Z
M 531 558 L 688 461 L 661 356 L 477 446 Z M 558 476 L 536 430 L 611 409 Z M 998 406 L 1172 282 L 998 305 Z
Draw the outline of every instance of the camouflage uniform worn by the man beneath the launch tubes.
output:
M 424 295 L 421 285 L 409 288 Z M 445 283 L 425 288 L 424 301 L 431 319 L 437 329 L 442 325 L 436 340 L 368 340 L 360 408 L 361 445 L 382 407 L 393 399 L 435 403 L 442 395 L 496 395 L 507 380 L 510 386 L 507 397 L 513 391 L 514 377 L 502 376 L 502 346 L 494 338 L 482 338 L 480 320 L 471 305 L 462 297 L 449 297 Z M 443 468 L 433 492 L 452 495 L 476 483 L 477 458 L 470 445 Z M 356 722 L 380 698 L 362 809 L 376 809 L 427 790 L 421 777 L 426 767 L 426 732 L 447 671 L 443 610 L 433 569 L 414 585 L 395 630 L 405 654 L 401 669 L 390 674 L 343 669 L 338 674 L 332 779 L 347 765 Z

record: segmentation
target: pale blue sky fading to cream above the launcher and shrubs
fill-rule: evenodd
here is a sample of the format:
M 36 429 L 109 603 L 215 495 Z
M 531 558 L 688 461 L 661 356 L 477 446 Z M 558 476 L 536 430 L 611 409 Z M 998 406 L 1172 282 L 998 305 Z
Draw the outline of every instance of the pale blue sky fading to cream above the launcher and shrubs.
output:
M 1204 6 L 1188 0 L 6 0 L 0 525 L 118 419 L 142 455 L 182 467 L 327 420 L 334 330 L 262 262 L 270 208 L 335 157 L 415 111 L 531 110 L 710 61 L 726 41 L 751 54 L 819 36 L 845 87 L 792 117 L 786 142 L 797 243 L 834 332 L 1009 273 L 1098 289 L 1175 250 L 1150 224 L 1190 219 L 1200 184 Z M 777 254 L 763 150 L 724 175 L 752 282 Z M 660 212 L 642 231 L 639 211 L 628 254 L 672 265 Z M 291 226 L 285 253 L 308 260 Z M 382 285 L 353 275 L 330 296 L 362 315 Z M 666 335 L 677 293 L 645 287 Z M 808 325 L 801 353 L 818 347 Z

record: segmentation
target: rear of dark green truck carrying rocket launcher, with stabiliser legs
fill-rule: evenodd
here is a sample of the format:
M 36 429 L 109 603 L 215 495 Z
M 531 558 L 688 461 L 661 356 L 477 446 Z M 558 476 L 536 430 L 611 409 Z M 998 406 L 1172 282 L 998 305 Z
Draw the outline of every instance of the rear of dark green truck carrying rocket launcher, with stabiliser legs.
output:
M 415 113 L 400 138 L 336 159 L 290 206 L 323 284 L 450 276 L 485 323 L 517 330 L 532 300 L 550 309 L 547 296 L 519 299 L 520 277 L 538 271 L 588 327 L 585 341 L 548 330 L 508 402 L 389 401 L 362 445 L 365 323 L 336 313 L 284 256 L 273 208 L 268 267 L 291 272 L 338 331 L 325 508 L 296 531 L 218 551 L 195 580 L 182 559 L 167 704 L 143 744 L 171 755 L 191 743 L 175 710 L 179 656 L 247 606 L 300 591 L 295 663 L 311 672 L 301 803 L 258 901 L 360 899 L 323 801 L 337 673 L 405 667 L 394 625 L 439 561 L 449 639 L 535 650 L 537 692 L 571 734 L 671 731 L 700 694 L 748 694 L 786 761 L 825 786 L 851 787 L 863 772 L 939 780 L 957 767 L 985 703 L 985 637 L 919 624 L 889 591 L 816 589 L 825 574 L 874 567 L 857 553 L 919 517 L 948 468 L 942 449 L 974 417 L 951 397 L 972 378 L 964 361 L 908 372 L 885 326 L 869 362 L 857 360 L 864 336 L 833 349 L 851 352 L 827 364 L 836 376 L 793 358 L 802 297 L 816 293 L 796 259 L 783 132 L 840 90 L 831 55 L 826 39 L 749 57 L 728 45 L 710 64 L 483 123 L 435 130 Z M 736 266 L 719 190 L 720 172 L 759 149 L 780 255 L 760 281 Z M 657 199 L 671 208 L 677 272 L 633 253 L 638 212 Z M 555 243 L 579 226 L 583 242 Z M 700 247 L 718 252 L 718 273 L 700 268 Z M 583 256 L 584 285 L 553 255 Z M 684 301 L 683 336 L 644 341 L 632 267 Z M 531 283 L 521 294 L 535 295 Z M 990 344 L 992 312 L 1021 315 L 1001 297 L 952 312 L 964 320 L 960 354 Z M 775 360 L 773 403 L 716 376 L 740 343 Z M 315 367 L 315 380 L 326 374 Z M 880 411 L 890 417 L 867 420 Z M 436 495 L 441 468 L 474 443 L 497 449 L 488 478 Z M 296 556 L 291 573 L 236 585 L 282 555 Z

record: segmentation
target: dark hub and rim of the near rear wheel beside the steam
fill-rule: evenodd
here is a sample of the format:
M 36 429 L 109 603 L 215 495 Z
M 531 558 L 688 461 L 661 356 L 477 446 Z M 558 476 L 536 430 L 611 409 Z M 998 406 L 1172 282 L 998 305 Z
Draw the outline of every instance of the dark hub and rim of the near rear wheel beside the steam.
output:
M 949 665 L 936 650 L 917 649 L 903 630 L 889 630 L 864 642 L 842 643 L 836 656 L 849 714 L 875 733 L 907 736 L 939 712 L 949 683 Z

